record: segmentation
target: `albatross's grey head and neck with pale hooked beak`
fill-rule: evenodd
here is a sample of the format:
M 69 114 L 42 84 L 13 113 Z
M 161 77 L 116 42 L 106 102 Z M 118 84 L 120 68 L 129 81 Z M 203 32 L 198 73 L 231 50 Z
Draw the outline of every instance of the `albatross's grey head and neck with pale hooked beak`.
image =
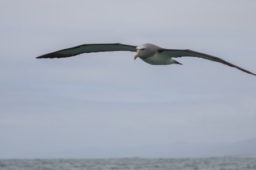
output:
M 153 44 L 142 44 L 137 46 L 136 49 L 137 49 L 137 54 L 135 54 L 134 60 L 138 57 L 143 59 L 143 58 L 153 56 L 156 53 L 157 49 L 159 49 L 159 46 L 156 46 Z

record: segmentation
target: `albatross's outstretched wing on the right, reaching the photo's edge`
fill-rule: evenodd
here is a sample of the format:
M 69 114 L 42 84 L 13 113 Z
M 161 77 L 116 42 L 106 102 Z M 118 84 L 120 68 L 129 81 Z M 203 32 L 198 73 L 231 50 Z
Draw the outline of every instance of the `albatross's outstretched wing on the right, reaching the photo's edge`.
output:
M 166 54 L 166 55 L 168 55 L 170 57 L 174 57 L 174 58 L 188 56 L 188 57 L 199 57 L 199 58 L 209 59 L 211 61 L 216 61 L 216 62 L 223 63 L 224 65 L 228 65 L 230 67 L 235 67 L 235 68 L 237 68 L 237 69 L 239 69 L 241 71 L 244 71 L 245 73 L 249 73 L 249 74 L 252 74 L 252 75 L 256 76 L 256 74 L 251 73 L 250 71 L 247 71 L 245 69 L 242 69 L 241 67 L 238 67 L 236 65 L 233 65 L 232 63 L 227 62 L 224 59 L 221 59 L 221 58 L 218 58 L 218 57 L 214 57 L 214 56 L 210 56 L 208 54 L 204 54 L 204 53 L 200 53 L 200 52 L 195 52 L 193 50 L 189 50 L 189 49 L 185 49 L 185 50 L 180 50 L 180 49 L 160 49 L 158 51 L 159 51 L 159 53 Z

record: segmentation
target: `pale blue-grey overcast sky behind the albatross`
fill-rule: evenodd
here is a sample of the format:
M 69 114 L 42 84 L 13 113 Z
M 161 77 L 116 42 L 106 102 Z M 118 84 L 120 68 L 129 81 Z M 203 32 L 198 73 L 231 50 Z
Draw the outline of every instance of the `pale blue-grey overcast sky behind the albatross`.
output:
M 35 59 L 150 42 L 256 73 L 255 20 L 256 1 L 1 1 L 0 158 L 161 157 L 167 145 L 256 138 L 256 78 L 232 67 L 189 57 L 151 66 L 132 52 Z M 130 150 L 140 146 L 152 151 Z

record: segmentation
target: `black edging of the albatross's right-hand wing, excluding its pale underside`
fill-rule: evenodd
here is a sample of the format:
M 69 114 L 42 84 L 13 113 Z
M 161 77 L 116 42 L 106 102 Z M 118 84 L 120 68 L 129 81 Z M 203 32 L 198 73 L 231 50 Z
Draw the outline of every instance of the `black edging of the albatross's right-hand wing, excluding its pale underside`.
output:
M 159 49 L 158 50 L 159 53 L 162 53 L 163 51 L 183 51 L 183 52 L 187 52 L 187 53 L 200 54 L 202 56 L 207 56 L 207 57 L 213 58 L 214 60 L 216 60 L 216 62 L 223 63 L 224 65 L 228 65 L 230 67 L 234 67 L 234 68 L 236 68 L 238 70 L 241 70 L 241 71 L 243 71 L 245 73 L 248 73 L 248 74 L 256 76 L 256 74 L 254 74 L 254 73 L 252 73 L 252 72 L 250 72 L 248 70 L 245 70 L 245 69 L 243 69 L 241 67 L 238 67 L 238 66 L 234 65 L 233 63 L 225 61 L 224 59 L 221 59 L 221 58 L 218 58 L 218 57 L 215 57 L 215 56 L 210 56 L 209 54 L 200 53 L 200 52 L 196 52 L 196 51 L 189 50 L 189 49 L 184 49 L 184 50 L 181 50 L 181 49 Z M 185 57 L 185 56 L 180 56 L 180 57 Z M 193 57 L 193 56 L 188 56 L 188 57 Z M 197 57 L 197 56 L 194 56 L 194 57 Z M 199 57 L 199 58 L 201 58 L 201 57 Z M 206 59 L 206 58 L 204 58 L 204 59 Z

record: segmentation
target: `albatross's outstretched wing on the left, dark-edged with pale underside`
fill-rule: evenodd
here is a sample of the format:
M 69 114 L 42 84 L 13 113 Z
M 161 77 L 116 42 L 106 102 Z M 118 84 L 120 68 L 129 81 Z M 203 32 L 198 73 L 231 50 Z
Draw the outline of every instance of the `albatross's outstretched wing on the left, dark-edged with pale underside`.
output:
M 136 46 L 126 45 L 120 43 L 114 44 L 83 44 L 72 48 L 59 50 L 57 52 L 44 54 L 36 58 L 63 58 L 72 57 L 82 53 L 96 53 L 96 52 L 113 52 L 113 51 L 130 51 L 136 52 Z

